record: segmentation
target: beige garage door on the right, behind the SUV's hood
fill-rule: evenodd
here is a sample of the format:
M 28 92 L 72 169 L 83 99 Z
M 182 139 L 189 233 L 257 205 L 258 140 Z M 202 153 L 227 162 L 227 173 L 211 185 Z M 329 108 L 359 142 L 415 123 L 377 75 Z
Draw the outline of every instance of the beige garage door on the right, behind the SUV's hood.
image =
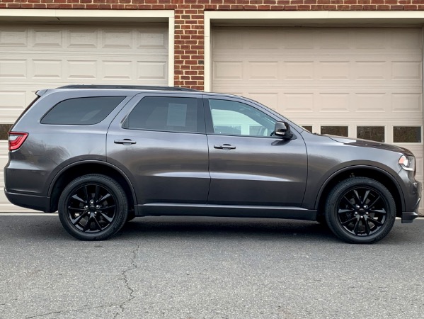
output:
M 418 28 L 214 28 L 212 90 L 314 133 L 407 147 L 423 181 L 421 39 Z

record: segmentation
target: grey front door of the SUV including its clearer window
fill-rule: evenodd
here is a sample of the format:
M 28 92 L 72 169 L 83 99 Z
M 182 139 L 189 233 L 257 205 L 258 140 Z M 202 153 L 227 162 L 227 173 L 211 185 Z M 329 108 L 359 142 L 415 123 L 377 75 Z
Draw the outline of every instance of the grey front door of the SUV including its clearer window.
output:
M 237 99 L 205 102 L 210 154 L 208 203 L 301 206 L 307 174 L 302 136 L 282 140 L 277 120 Z

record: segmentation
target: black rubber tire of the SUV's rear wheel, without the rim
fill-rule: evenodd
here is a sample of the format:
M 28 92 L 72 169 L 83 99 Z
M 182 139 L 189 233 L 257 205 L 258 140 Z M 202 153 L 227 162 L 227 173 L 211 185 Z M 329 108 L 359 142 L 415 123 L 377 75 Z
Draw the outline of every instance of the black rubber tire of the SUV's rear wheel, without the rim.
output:
M 75 194 L 77 189 L 86 185 L 98 184 L 107 189 L 115 199 L 116 211 L 110 225 L 98 233 L 85 233 L 76 228 L 69 218 L 67 203 L 69 198 Z M 98 174 L 85 175 L 71 181 L 62 191 L 59 197 L 59 220 L 67 232 L 79 240 L 105 240 L 117 233 L 127 220 L 128 207 L 127 198 L 120 184 L 113 179 Z

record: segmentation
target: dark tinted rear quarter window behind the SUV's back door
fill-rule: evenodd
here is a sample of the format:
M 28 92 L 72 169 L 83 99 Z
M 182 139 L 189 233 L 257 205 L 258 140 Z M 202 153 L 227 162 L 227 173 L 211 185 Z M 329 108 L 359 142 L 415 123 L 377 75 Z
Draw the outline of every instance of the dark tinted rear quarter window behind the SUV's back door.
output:
M 42 124 L 90 125 L 105 119 L 125 96 L 69 99 L 57 103 L 41 120 Z

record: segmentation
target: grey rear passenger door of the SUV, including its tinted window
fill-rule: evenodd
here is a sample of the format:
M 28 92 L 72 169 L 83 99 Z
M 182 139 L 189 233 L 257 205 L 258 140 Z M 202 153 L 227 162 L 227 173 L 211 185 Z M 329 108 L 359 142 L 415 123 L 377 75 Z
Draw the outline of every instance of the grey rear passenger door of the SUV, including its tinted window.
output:
M 210 175 L 202 99 L 136 96 L 110 125 L 107 157 L 130 177 L 138 204 L 206 203 Z

